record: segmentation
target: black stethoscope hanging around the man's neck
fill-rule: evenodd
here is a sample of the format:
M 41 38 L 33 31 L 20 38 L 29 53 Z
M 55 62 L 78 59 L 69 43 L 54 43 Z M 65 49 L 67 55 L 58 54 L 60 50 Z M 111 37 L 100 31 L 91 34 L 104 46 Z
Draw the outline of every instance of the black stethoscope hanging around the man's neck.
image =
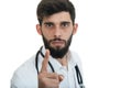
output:
M 38 52 L 36 53 L 36 56 L 35 56 L 35 68 L 36 68 L 37 74 L 38 74 L 38 54 L 41 54 L 41 56 L 44 57 L 44 54 L 41 52 L 42 48 L 43 48 L 43 46 L 38 50 Z M 54 67 L 50 62 L 48 62 L 48 65 L 50 65 L 52 72 L 55 73 Z M 81 77 L 80 70 L 77 65 L 75 66 L 75 70 L 76 70 L 76 75 L 77 75 L 77 81 L 78 81 L 80 88 L 85 88 L 85 86 L 82 84 L 82 77 Z

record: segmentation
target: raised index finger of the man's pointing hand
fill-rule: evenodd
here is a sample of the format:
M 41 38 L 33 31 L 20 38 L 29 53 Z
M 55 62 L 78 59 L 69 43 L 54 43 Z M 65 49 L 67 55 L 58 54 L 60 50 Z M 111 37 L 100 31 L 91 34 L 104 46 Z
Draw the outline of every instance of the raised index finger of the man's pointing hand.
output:
M 41 73 L 47 72 L 48 59 L 50 59 L 50 51 L 46 50 L 45 57 L 42 63 Z

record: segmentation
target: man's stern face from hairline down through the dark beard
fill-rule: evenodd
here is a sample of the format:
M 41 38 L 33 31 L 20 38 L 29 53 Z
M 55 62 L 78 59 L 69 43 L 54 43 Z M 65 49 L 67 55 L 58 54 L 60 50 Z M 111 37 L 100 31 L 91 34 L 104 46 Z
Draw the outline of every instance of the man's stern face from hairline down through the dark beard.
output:
M 54 58 L 63 58 L 69 48 L 77 25 L 73 25 L 68 12 L 58 12 L 44 18 L 40 30 L 45 48 L 50 50 Z

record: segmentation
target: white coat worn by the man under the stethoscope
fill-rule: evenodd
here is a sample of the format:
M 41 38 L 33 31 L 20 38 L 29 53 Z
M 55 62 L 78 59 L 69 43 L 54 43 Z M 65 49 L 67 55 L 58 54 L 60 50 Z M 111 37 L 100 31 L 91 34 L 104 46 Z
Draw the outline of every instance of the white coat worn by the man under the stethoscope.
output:
M 45 50 L 42 50 L 45 54 Z M 11 88 L 37 88 L 37 72 L 35 68 L 35 56 L 26 61 L 22 66 L 20 66 L 13 74 L 11 79 Z M 55 58 L 50 57 L 50 62 L 53 65 L 57 74 L 64 76 L 64 80 L 59 84 L 59 88 L 80 88 L 77 81 L 75 65 L 78 65 L 81 73 L 81 63 L 78 55 L 75 52 L 69 52 L 68 55 L 68 70 L 66 67 L 63 67 Z M 38 70 L 42 67 L 43 57 L 38 55 Z M 48 66 L 48 72 L 51 67 Z M 82 75 L 82 73 L 81 73 Z

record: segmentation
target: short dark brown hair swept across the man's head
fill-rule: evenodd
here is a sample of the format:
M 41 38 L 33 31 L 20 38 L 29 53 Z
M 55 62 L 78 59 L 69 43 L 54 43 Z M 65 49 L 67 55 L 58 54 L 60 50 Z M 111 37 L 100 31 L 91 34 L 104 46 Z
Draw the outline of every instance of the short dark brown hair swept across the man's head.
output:
M 73 24 L 75 23 L 75 8 L 69 0 L 41 0 L 37 6 L 37 20 L 42 24 L 43 18 L 54 13 L 66 11 L 69 12 Z

